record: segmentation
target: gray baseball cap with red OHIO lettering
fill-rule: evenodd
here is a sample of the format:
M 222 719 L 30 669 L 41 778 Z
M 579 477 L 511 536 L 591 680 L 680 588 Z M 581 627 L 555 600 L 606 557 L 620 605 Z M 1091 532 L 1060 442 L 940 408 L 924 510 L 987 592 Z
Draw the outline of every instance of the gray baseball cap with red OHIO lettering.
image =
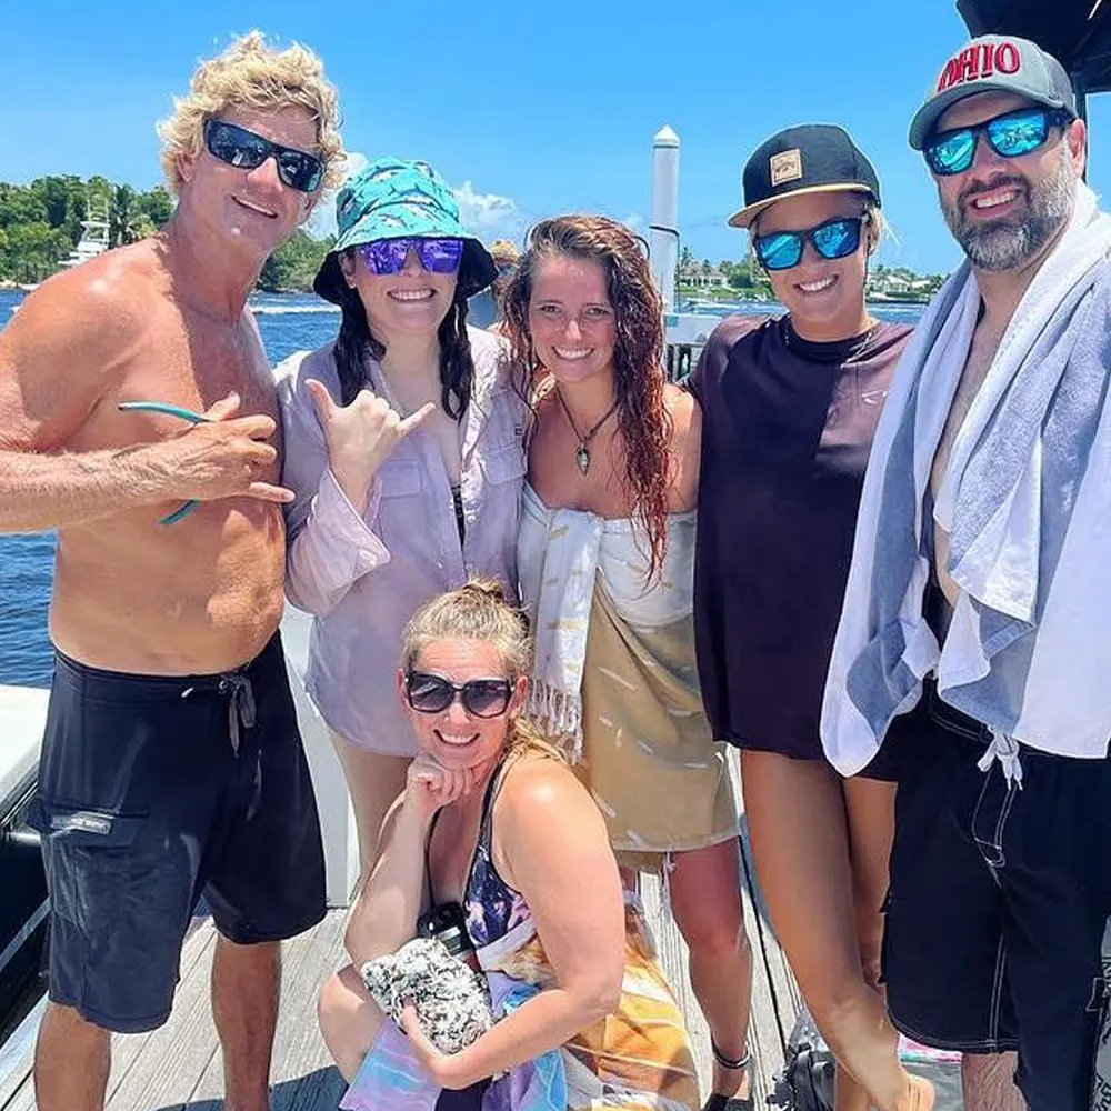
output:
M 1013 34 L 982 34 L 967 42 L 941 69 L 937 84 L 910 123 L 910 144 L 921 150 L 950 104 L 978 92 L 1017 92 L 1049 108 L 1077 114 L 1064 67 L 1035 42 Z

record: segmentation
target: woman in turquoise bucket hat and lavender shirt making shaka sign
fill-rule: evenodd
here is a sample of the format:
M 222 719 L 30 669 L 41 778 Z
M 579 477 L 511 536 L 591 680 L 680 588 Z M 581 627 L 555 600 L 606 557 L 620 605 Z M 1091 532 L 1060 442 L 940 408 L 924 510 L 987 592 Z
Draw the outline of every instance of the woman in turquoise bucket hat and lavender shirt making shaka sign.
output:
M 502 341 L 467 327 L 497 268 L 424 162 L 380 158 L 337 197 L 313 288 L 338 338 L 279 369 L 287 594 L 313 614 L 307 690 L 343 763 L 366 871 L 417 752 L 394 690 L 401 632 L 482 574 L 517 589 L 526 408 Z

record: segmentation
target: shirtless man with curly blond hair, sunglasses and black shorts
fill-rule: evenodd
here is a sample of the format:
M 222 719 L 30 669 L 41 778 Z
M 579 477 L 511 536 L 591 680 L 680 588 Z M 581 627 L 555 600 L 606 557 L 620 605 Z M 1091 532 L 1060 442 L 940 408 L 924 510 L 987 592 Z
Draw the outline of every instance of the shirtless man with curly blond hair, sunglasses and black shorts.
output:
M 277 631 L 292 494 L 246 304 L 338 173 L 336 121 L 316 56 L 233 42 L 161 129 L 167 227 L 52 278 L 0 334 L 0 530 L 58 530 L 41 1111 L 103 1107 L 110 1031 L 168 1018 L 201 892 L 226 1105 L 269 1105 L 279 943 L 323 915 L 323 859 Z

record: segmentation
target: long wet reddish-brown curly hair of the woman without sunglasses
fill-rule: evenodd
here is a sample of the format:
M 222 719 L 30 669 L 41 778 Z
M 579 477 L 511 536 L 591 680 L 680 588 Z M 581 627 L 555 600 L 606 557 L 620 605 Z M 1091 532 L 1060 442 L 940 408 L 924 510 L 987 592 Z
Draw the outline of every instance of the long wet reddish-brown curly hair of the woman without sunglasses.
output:
M 648 578 L 667 553 L 668 497 L 673 479 L 668 449 L 673 422 L 664 401 L 663 301 L 652 280 L 642 241 L 624 224 L 603 216 L 561 216 L 538 223 L 506 292 L 503 334 L 509 339 L 518 389 L 539 397 L 547 383 L 529 329 L 529 303 L 538 268 L 560 256 L 601 266 L 613 307 L 618 429 L 624 444 L 624 484 L 632 514 L 648 534 Z

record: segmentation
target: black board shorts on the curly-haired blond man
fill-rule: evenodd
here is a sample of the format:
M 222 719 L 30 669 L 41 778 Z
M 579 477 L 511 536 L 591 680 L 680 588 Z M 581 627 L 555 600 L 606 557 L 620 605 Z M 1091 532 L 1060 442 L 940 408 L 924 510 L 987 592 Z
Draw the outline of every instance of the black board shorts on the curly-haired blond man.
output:
M 58 653 L 38 794 L 50 998 L 108 1030 L 161 1025 L 203 894 L 220 933 L 324 915 L 324 861 L 281 641 L 216 675 L 132 675 Z

